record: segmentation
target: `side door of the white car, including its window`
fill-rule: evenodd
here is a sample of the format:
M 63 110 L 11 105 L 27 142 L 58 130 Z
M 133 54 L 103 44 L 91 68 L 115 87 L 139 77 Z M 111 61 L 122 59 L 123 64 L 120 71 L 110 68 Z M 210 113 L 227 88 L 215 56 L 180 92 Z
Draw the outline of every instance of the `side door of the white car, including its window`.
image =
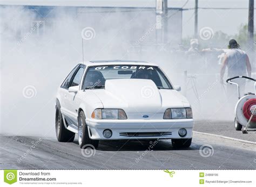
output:
M 76 87 L 80 85 L 84 74 L 85 66 L 80 65 L 77 69 L 76 73 L 72 76 L 69 87 Z M 65 106 L 66 106 L 66 117 L 68 120 L 69 125 L 73 126 L 74 128 L 77 127 L 77 115 L 78 115 L 78 106 L 79 103 L 77 102 L 77 93 L 74 92 L 66 92 L 65 97 Z

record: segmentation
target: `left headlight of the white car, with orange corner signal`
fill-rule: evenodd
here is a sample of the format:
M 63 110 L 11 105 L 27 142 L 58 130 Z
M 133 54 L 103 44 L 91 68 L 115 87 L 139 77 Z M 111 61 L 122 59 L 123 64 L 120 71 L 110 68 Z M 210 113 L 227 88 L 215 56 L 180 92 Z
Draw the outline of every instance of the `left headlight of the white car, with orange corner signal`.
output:
M 122 109 L 95 109 L 91 117 L 93 119 L 127 119 Z

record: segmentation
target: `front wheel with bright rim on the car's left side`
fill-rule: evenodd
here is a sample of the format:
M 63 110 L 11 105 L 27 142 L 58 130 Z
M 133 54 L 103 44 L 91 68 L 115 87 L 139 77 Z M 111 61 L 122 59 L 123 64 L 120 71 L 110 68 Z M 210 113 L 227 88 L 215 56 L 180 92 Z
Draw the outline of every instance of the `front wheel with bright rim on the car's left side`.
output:
M 83 111 L 80 111 L 78 117 L 78 143 L 80 148 L 90 147 L 90 145 L 97 148 L 99 145 L 99 140 L 90 139 L 88 126 L 85 123 L 85 114 Z

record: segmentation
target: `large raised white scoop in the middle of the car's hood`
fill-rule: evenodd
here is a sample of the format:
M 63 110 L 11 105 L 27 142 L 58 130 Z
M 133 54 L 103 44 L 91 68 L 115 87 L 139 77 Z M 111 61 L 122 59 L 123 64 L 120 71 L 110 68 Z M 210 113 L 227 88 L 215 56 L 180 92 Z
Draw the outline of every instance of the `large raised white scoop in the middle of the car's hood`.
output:
M 126 106 L 127 113 L 154 113 L 162 106 L 161 95 L 152 80 L 135 78 L 106 80 L 105 90 L 115 97 L 119 104 Z

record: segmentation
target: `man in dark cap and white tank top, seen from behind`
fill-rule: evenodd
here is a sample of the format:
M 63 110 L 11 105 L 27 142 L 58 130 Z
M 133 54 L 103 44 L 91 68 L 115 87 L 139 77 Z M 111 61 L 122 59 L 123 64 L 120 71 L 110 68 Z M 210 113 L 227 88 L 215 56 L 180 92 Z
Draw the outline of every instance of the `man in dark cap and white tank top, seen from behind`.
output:
M 225 74 L 225 69 L 227 67 L 227 78 L 235 77 L 235 76 L 248 76 L 251 77 L 252 68 L 248 55 L 240 49 L 239 44 L 234 39 L 230 40 L 228 51 L 223 60 L 223 64 L 220 70 L 220 83 L 223 84 L 223 77 Z M 240 86 L 240 93 L 243 95 L 245 93 L 245 79 L 239 78 L 237 80 L 233 80 L 233 82 L 237 82 Z M 228 85 L 227 87 L 228 96 L 237 95 L 236 88 L 233 85 Z

